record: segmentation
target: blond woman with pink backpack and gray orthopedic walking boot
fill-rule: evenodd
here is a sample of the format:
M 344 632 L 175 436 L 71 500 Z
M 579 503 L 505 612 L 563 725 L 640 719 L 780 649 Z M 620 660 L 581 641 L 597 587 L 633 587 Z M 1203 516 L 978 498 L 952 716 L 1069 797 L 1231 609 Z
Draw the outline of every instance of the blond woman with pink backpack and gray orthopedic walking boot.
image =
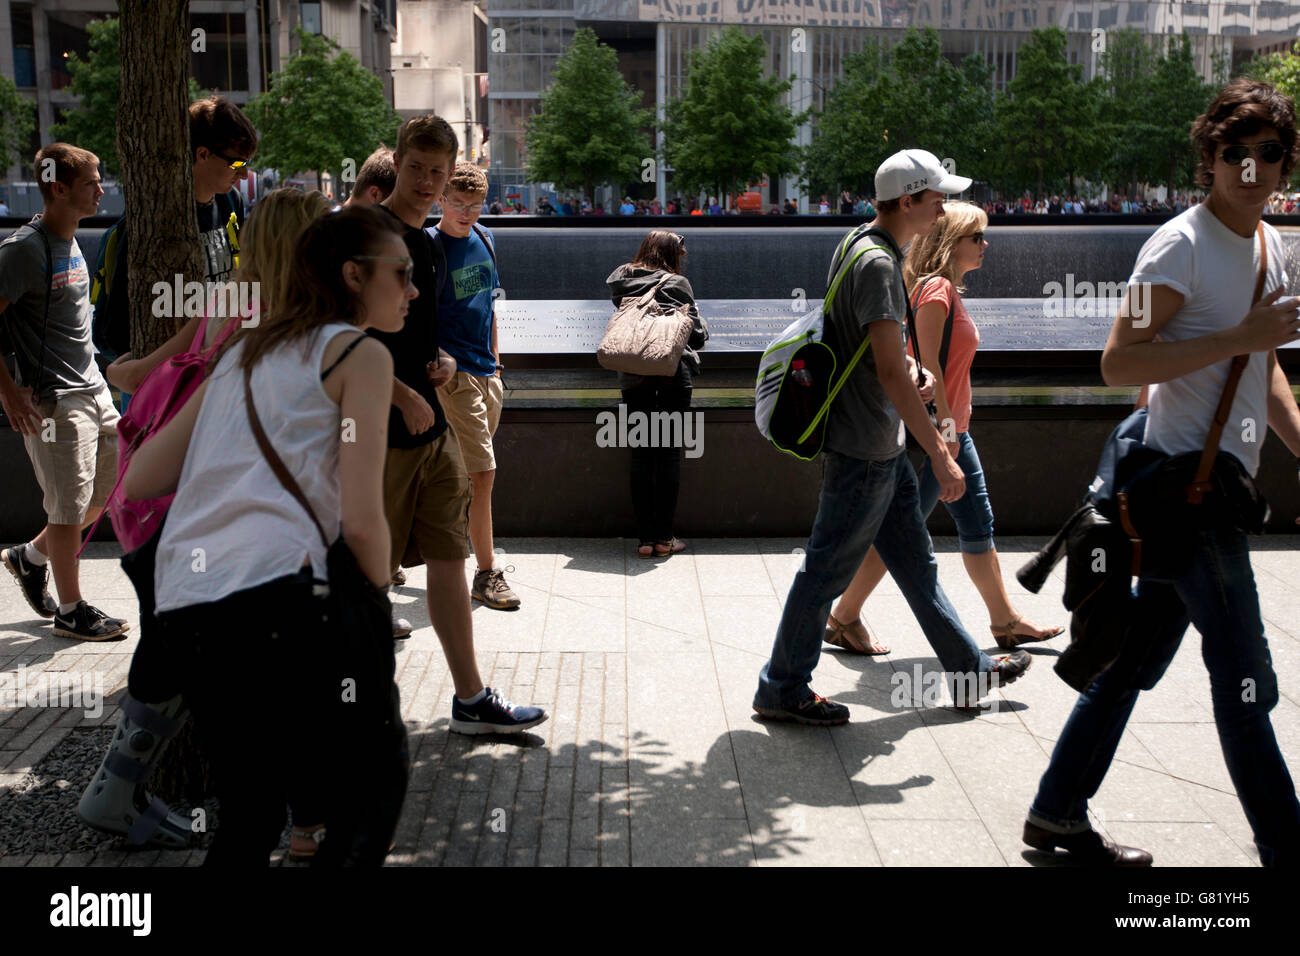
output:
M 243 230 L 243 255 L 237 282 L 256 282 L 257 299 L 269 307 L 283 295 L 294 246 L 313 220 L 329 212 L 320 193 L 280 189 L 268 193 L 250 215 Z M 263 316 L 230 316 L 224 323 L 199 316 L 143 359 L 118 359 L 107 377 L 133 392 L 118 424 L 118 484 L 104 512 L 124 550 L 135 551 L 157 531 L 173 496 L 126 501 L 122 476 L 136 449 L 155 436 L 207 377 L 220 347 L 243 324 Z M 90 541 L 94 529 L 86 536 Z M 148 606 L 142 600 L 140 643 L 131 658 L 129 693 L 124 698 L 113 743 L 99 771 L 82 795 L 78 813 L 100 830 L 120 834 L 127 843 L 153 843 L 168 848 L 188 845 L 190 821 L 169 810 L 146 790 L 146 783 L 166 743 L 185 722 L 185 704 L 176 679 L 156 653 L 152 627 L 152 587 Z

